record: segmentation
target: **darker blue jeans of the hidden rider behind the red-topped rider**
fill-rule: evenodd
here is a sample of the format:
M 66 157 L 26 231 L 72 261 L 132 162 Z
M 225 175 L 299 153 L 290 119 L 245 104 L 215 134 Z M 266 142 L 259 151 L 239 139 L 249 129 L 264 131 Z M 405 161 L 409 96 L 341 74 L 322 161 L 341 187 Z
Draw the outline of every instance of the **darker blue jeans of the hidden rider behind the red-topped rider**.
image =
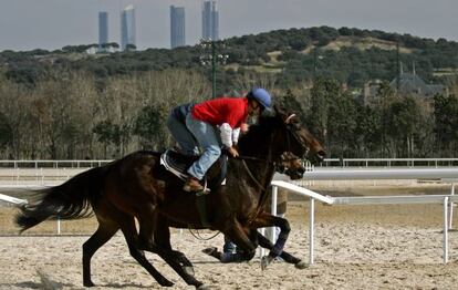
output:
M 192 134 L 176 115 L 170 114 L 167 118 L 167 127 L 186 155 L 199 155 L 199 147 Z

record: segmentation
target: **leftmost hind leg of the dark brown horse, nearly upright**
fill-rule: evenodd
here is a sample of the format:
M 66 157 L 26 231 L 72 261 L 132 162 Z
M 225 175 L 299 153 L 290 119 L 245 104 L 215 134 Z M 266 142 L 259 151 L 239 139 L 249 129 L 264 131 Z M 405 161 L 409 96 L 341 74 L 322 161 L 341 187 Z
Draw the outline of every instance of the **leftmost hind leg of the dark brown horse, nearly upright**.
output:
M 97 230 L 91 236 L 91 238 L 83 245 L 83 284 L 85 287 L 92 287 L 94 283 L 91 280 L 91 258 L 107 242 L 113 235 L 119 229 L 115 224 L 100 222 Z

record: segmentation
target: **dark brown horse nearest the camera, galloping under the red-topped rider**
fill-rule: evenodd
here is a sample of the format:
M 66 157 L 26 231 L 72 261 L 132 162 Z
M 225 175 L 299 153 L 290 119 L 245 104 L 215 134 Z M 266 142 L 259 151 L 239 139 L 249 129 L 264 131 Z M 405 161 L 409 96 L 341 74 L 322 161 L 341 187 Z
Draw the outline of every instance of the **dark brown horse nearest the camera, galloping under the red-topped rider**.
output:
M 133 153 L 84 172 L 60 186 L 40 190 L 35 200 L 21 208 L 17 222 L 27 230 L 46 219 L 85 217 L 92 213 L 92 207 L 98 228 L 83 245 L 84 286 L 93 286 L 92 256 L 121 229 L 131 255 L 159 284 L 173 283 L 146 260 L 143 250 L 159 255 L 188 284 L 205 289 L 206 286 L 187 271 L 188 259 L 171 249 L 168 227 L 220 230 L 243 250 L 246 259 L 254 256 L 257 240 L 271 249 L 270 257 L 283 257 L 288 221 L 262 209 L 275 164 L 284 152 L 312 162 L 324 157 L 320 143 L 293 116 L 279 111 L 251 126 L 240 138 L 239 152 L 244 158 L 229 158 L 226 185 L 212 187 L 211 194 L 205 197 L 207 222 L 202 222 L 195 206 L 201 197 L 183 191 L 183 180 L 159 164 L 159 153 L 150 152 Z M 217 172 L 218 168 L 210 169 L 210 178 Z M 139 224 L 138 231 L 135 219 Z M 254 234 L 253 229 L 269 226 L 281 228 L 275 245 Z

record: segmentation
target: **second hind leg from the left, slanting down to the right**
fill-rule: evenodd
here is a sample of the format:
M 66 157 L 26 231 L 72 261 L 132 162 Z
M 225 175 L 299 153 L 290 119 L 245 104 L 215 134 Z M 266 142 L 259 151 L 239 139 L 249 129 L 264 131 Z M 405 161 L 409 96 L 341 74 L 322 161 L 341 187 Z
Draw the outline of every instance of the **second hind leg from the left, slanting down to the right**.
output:
M 146 259 L 145 253 L 137 249 L 134 245 L 136 245 L 137 230 L 135 228 L 135 220 L 133 217 L 126 217 L 123 221 L 121 230 L 124 234 L 124 237 L 127 241 L 128 250 L 131 256 L 145 268 L 156 281 L 163 287 L 170 287 L 174 283 L 167 280 L 159 271 L 154 268 L 154 266 Z

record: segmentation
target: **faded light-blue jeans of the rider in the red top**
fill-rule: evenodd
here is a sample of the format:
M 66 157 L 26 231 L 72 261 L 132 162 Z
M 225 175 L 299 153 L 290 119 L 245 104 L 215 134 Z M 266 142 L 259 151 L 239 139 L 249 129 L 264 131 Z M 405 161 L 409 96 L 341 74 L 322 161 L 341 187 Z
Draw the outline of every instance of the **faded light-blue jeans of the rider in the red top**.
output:
M 192 133 L 204 154 L 188 169 L 188 174 L 201 180 L 211 165 L 221 155 L 221 148 L 215 127 L 206 122 L 196 120 L 189 113 L 186 116 L 186 127 Z

